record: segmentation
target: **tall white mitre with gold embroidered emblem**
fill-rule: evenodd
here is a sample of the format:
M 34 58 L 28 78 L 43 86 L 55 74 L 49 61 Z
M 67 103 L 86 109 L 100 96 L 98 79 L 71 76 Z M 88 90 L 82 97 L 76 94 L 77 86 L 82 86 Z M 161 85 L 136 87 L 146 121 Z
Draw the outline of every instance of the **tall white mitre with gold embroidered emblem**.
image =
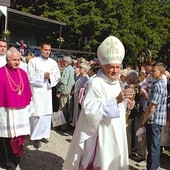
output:
M 101 65 L 121 64 L 125 56 L 125 48 L 118 38 L 109 36 L 98 47 L 97 56 Z

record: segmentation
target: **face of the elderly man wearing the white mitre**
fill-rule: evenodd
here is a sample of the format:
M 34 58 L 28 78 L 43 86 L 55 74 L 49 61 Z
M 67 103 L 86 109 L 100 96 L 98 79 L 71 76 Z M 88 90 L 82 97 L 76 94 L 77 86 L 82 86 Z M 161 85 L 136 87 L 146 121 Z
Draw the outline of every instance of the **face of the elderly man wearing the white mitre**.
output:
M 110 80 L 118 79 L 121 68 L 122 68 L 122 64 L 107 64 L 102 66 L 103 73 Z

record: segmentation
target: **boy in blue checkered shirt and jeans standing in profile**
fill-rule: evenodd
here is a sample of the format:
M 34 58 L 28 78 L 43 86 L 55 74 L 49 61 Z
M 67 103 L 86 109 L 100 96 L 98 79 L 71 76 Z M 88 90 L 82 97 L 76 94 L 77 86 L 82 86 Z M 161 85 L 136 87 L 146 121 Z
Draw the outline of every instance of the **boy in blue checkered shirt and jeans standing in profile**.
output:
M 162 127 L 166 125 L 167 86 L 162 79 L 166 70 L 163 63 L 152 65 L 151 75 L 155 79 L 149 96 L 149 106 L 144 114 L 141 126 L 146 127 L 147 170 L 156 170 L 160 161 L 160 137 Z

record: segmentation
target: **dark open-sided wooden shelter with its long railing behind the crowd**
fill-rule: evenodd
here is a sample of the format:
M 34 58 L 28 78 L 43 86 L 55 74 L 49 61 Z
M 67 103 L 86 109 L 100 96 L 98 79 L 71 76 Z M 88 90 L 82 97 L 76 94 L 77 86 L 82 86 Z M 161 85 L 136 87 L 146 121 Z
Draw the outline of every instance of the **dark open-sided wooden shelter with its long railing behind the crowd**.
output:
M 0 35 L 4 30 L 10 31 L 9 45 L 17 47 L 16 42 L 23 40 L 28 45 L 30 52 L 36 56 L 40 54 L 40 44 L 50 42 L 50 37 L 56 34 L 56 41 L 51 41 L 52 57 L 58 58 L 63 55 L 71 54 L 76 56 L 95 57 L 93 52 L 83 52 L 68 49 L 58 49 L 57 38 L 62 37 L 67 24 L 64 22 L 36 16 L 10 8 L 10 0 L 0 0 L 0 7 L 6 8 L 6 15 L 0 8 Z M 27 54 L 28 51 L 25 53 Z

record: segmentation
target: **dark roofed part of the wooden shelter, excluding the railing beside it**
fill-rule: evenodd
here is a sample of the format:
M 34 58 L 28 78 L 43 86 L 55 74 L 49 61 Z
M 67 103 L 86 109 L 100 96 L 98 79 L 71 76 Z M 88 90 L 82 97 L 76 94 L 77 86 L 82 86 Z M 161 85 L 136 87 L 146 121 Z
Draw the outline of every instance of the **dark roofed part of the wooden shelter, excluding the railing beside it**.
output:
M 57 38 L 62 36 L 63 27 L 66 23 L 32 15 L 10 8 L 9 0 L 0 0 L 0 6 L 7 7 L 7 16 L 0 15 L 0 34 L 3 31 L 11 32 L 9 44 L 15 44 L 16 41 L 24 40 L 28 45 L 38 46 L 41 42 L 55 33 Z

